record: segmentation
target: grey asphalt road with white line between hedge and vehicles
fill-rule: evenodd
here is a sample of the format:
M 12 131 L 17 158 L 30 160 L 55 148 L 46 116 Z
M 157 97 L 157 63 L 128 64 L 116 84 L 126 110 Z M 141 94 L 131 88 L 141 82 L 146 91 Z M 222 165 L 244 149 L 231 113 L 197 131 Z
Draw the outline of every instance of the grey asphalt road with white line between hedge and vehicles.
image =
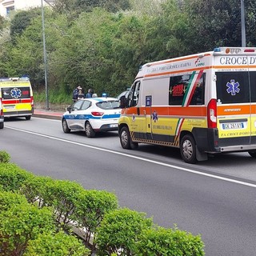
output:
M 226 154 L 182 162 L 179 151 L 141 145 L 122 150 L 118 134 L 64 134 L 61 122 L 32 118 L 5 122 L 0 150 L 34 174 L 108 190 L 120 206 L 146 212 L 160 226 L 201 234 L 206 255 L 256 255 L 255 159 Z

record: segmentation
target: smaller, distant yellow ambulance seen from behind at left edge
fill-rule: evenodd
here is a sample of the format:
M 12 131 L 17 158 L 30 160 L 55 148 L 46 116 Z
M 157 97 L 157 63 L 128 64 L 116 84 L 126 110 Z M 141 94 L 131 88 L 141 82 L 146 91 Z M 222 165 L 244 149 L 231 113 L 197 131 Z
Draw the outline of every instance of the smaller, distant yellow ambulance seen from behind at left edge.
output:
M 34 97 L 29 78 L 0 78 L 0 100 L 5 118 L 25 117 L 34 113 Z

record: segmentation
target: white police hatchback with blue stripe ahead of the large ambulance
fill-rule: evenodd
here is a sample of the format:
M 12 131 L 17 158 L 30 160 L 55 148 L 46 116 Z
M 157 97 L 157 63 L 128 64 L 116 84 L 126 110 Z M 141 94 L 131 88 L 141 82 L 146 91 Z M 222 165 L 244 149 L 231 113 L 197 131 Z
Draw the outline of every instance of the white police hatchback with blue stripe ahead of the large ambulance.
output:
M 118 130 L 121 109 L 117 98 L 82 98 L 66 108 L 62 116 L 62 130 L 83 130 L 92 138 L 98 132 Z

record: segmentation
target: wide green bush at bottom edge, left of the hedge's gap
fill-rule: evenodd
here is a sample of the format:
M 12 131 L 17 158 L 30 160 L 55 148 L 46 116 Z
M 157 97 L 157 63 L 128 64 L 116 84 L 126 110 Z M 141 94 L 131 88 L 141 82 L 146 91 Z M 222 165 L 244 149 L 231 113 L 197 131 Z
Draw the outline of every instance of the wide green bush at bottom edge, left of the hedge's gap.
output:
M 30 240 L 23 256 L 86 256 L 90 255 L 78 238 L 67 235 L 63 231 L 57 234 L 39 234 L 38 238 Z

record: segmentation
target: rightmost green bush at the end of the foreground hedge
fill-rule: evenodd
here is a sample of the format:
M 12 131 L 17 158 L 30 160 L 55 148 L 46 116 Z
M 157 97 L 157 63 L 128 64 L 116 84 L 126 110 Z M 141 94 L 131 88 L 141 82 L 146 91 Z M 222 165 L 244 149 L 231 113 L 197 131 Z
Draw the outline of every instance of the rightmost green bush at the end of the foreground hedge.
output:
M 142 230 L 137 243 L 138 256 L 202 256 L 204 244 L 199 235 L 194 236 L 175 228 Z

